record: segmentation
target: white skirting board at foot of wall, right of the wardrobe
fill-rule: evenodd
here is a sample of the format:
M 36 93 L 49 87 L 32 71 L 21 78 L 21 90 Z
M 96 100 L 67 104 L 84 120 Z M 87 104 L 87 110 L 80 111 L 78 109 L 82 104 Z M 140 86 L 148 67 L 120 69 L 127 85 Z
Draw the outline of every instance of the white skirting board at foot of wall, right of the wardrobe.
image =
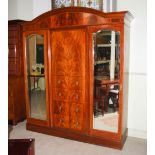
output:
M 147 139 L 147 132 L 142 130 L 134 130 L 128 128 L 128 136 Z

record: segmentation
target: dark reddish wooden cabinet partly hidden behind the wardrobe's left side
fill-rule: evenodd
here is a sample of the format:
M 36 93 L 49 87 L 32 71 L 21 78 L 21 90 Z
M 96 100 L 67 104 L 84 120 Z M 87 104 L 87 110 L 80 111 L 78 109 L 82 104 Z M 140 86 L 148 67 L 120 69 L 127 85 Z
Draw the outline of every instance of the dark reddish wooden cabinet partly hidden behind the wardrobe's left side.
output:
M 25 119 L 22 26 L 24 21 L 8 22 L 8 119 L 13 124 Z

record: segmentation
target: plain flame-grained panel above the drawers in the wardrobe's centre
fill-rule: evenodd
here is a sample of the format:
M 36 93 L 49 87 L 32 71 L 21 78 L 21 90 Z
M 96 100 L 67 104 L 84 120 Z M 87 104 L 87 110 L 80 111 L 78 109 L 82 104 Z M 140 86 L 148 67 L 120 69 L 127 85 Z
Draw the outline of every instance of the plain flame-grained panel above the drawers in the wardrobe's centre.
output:
M 85 31 L 62 30 L 51 33 L 52 73 L 63 76 L 85 75 Z

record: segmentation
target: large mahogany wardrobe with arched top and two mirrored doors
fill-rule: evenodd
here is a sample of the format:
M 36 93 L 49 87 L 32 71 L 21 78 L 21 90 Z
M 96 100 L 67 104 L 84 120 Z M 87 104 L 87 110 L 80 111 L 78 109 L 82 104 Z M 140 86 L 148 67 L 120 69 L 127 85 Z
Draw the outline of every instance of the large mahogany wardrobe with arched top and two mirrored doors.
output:
M 131 19 L 65 7 L 23 24 L 28 130 L 123 147 Z

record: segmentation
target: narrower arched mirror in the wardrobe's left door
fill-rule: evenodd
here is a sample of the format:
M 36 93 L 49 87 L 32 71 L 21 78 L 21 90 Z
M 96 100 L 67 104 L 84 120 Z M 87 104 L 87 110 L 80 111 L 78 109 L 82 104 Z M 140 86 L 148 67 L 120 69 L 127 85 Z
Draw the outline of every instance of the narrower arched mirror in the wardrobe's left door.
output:
M 46 87 L 44 74 L 44 37 L 26 39 L 29 116 L 46 120 Z

